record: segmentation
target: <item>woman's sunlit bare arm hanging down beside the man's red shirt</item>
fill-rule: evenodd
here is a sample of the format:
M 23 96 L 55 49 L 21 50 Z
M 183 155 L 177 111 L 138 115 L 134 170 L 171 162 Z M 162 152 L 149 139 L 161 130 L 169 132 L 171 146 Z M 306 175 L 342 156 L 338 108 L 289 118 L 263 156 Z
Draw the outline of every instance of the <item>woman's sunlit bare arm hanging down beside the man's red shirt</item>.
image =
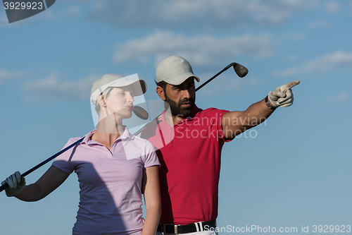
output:
M 155 235 L 161 215 L 161 198 L 159 187 L 159 166 L 147 167 L 143 170 L 144 201 L 146 203 L 146 220 L 142 235 Z

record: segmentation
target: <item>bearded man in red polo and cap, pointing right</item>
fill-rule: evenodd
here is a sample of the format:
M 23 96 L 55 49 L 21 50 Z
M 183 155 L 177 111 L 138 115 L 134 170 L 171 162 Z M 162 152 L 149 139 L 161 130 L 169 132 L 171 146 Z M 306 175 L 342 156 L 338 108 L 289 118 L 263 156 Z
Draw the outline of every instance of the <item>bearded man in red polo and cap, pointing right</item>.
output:
M 164 59 L 156 68 L 156 92 L 170 112 L 142 132 L 156 147 L 161 168 L 162 214 L 158 231 L 164 234 L 213 234 L 218 216 L 218 182 L 222 145 L 265 121 L 277 107 L 293 103 L 291 87 L 276 88 L 246 111 L 229 112 L 196 107 L 194 75 L 180 56 Z

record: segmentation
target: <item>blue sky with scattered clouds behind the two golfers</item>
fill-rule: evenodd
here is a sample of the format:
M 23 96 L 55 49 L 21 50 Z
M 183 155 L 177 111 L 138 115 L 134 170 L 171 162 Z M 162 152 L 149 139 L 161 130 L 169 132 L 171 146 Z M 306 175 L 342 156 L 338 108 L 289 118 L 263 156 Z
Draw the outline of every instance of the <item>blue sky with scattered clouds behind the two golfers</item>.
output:
M 11 24 L 0 10 L 1 176 L 91 131 L 89 92 L 104 73 L 138 73 L 146 100 L 158 100 L 162 59 L 183 56 L 201 83 L 234 61 L 248 76 L 222 73 L 197 92 L 199 107 L 244 110 L 280 85 L 301 84 L 293 106 L 225 144 L 218 226 L 322 234 L 313 226 L 352 225 L 351 20 L 347 0 L 56 1 Z M 74 174 L 36 203 L 2 194 L 1 234 L 70 234 Z

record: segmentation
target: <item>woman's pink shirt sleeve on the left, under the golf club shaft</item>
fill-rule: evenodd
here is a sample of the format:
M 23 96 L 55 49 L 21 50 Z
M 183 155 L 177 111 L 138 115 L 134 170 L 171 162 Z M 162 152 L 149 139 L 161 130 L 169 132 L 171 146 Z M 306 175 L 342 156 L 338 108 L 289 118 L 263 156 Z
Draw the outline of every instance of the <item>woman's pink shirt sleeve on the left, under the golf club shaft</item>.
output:
M 68 140 L 68 143 L 66 143 L 62 149 L 64 149 L 65 147 L 68 147 L 69 145 L 72 145 L 77 140 L 80 140 L 80 138 L 70 138 L 70 140 Z M 58 169 L 61 169 L 61 171 L 71 174 L 75 169 L 71 159 L 73 157 L 73 153 L 75 152 L 75 148 L 77 146 L 78 145 L 73 146 L 66 152 L 63 152 L 61 155 L 58 155 L 58 157 L 56 157 L 53 162 L 53 166 L 57 167 Z

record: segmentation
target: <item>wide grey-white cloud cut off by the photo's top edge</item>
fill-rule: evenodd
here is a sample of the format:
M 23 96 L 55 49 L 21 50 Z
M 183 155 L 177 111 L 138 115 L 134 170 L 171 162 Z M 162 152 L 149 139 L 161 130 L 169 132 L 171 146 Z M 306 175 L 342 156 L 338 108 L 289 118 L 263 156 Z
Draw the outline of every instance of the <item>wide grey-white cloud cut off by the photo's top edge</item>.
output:
M 294 13 L 315 5 L 315 0 L 113 0 L 97 2 L 87 17 L 127 28 L 211 30 L 244 25 L 282 25 Z

